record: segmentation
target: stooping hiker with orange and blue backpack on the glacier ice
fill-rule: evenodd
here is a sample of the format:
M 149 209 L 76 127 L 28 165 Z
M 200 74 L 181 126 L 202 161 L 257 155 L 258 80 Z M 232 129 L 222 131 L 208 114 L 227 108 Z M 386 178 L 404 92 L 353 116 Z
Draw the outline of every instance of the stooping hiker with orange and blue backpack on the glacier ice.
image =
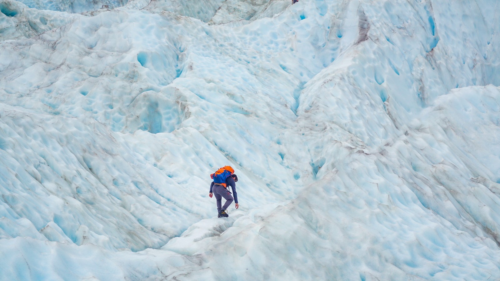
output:
M 238 176 L 234 173 L 234 169 L 231 166 L 224 166 L 212 173 L 210 177 L 213 181 L 210 184 L 210 192 L 208 193 L 208 196 L 211 198 L 215 195 L 217 203 L 217 217 L 227 217 L 228 214 L 225 210 L 232 203 L 232 201 L 235 202 L 236 208 L 239 207 L 235 184 L 235 182 L 238 181 Z M 231 195 L 231 192 L 227 189 L 227 185 L 231 186 L 233 195 Z M 222 205 L 222 197 L 226 200 L 224 205 Z

